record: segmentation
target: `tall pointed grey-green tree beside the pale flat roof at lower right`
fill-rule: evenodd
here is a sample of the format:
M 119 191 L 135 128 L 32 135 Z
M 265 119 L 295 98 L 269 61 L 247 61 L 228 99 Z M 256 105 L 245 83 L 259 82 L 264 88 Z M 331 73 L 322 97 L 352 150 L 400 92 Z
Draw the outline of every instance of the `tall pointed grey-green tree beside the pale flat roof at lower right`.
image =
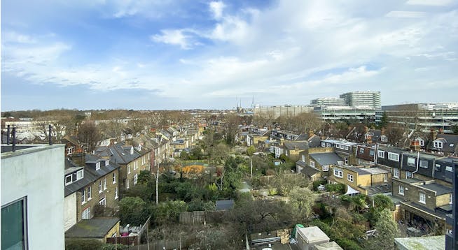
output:
M 394 249 L 394 237 L 398 232 L 398 225 L 394 221 L 391 211 L 383 209 L 380 218 L 375 224 L 375 237 L 368 239 L 366 249 Z

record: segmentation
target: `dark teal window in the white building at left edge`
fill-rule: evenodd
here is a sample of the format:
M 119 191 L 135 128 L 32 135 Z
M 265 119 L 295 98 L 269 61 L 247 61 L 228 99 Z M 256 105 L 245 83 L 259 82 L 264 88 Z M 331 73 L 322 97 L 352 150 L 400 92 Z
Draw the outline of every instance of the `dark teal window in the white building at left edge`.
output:
M 1 249 L 27 249 L 26 198 L 1 207 Z

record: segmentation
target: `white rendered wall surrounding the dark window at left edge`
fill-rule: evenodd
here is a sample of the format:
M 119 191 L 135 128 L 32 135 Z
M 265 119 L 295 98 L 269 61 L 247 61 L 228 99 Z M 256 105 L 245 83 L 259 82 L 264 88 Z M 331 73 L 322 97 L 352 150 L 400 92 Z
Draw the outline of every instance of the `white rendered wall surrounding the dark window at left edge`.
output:
M 1 154 L 1 205 L 23 197 L 29 249 L 64 249 L 64 145 Z

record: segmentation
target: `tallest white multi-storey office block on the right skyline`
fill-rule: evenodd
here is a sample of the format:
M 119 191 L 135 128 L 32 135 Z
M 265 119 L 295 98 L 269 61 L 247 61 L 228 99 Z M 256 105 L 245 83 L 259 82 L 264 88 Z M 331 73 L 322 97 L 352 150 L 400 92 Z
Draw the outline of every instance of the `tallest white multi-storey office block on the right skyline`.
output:
M 380 109 L 380 91 L 354 91 L 340 95 L 345 105 L 361 108 Z

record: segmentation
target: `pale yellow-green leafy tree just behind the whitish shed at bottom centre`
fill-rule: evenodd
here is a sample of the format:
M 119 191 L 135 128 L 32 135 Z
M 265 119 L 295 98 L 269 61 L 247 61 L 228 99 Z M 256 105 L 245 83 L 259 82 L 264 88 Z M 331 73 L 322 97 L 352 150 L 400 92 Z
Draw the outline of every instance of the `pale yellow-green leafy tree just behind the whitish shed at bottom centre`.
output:
M 289 192 L 291 205 L 298 211 L 299 219 L 307 219 L 312 212 L 312 203 L 314 203 L 313 192 L 308 188 L 296 187 Z

